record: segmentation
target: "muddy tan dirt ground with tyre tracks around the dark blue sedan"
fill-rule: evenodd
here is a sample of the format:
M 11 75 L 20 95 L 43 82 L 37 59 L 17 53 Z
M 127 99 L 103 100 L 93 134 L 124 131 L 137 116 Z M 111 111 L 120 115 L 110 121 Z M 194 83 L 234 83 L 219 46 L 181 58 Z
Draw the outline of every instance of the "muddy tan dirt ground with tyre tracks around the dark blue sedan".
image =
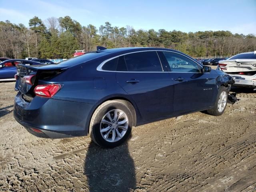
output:
M 14 82 L 0 83 L 1 191 L 256 191 L 256 91 L 222 116 L 201 112 L 134 127 L 122 146 L 43 139 L 13 117 Z

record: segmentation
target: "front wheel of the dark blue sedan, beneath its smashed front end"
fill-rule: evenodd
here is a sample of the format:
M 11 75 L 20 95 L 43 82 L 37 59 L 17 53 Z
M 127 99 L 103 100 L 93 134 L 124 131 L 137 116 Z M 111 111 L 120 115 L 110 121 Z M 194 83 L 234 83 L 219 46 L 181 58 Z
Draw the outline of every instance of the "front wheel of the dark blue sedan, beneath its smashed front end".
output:
M 228 90 L 224 86 L 220 86 L 214 108 L 208 109 L 207 113 L 214 116 L 220 116 L 224 113 L 228 100 Z

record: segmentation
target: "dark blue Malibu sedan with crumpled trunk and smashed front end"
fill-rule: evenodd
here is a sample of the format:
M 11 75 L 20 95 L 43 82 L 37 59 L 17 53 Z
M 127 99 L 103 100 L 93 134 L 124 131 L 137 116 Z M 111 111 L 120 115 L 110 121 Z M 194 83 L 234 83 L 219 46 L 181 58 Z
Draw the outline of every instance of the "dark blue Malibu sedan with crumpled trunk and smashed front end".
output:
M 221 115 L 233 83 L 176 50 L 101 47 L 60 64 L 17 65 L 14 117 L 36 136 L 89 134 L 113 148 L 133 126 L 204 110 Z

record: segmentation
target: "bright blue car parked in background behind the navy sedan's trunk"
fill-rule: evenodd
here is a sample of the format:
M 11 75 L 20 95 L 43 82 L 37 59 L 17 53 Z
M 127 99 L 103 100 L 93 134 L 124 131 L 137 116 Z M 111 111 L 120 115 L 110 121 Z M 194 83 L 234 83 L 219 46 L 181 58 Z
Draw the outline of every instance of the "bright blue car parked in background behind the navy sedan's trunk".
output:
M 40 65 L 38 62 L 28 61 L 24 59 L 9 59 L 0 63 L 0 82 L 15 81 L 16 65 Z

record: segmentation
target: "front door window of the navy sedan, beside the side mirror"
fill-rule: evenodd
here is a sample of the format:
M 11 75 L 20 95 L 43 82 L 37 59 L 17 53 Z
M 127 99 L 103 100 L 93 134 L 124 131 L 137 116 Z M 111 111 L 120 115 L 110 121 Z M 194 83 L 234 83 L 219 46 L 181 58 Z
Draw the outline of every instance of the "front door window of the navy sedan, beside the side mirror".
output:
M 199 72 L 198 64 L 174 52 L 163 52 L 172 72 Z

